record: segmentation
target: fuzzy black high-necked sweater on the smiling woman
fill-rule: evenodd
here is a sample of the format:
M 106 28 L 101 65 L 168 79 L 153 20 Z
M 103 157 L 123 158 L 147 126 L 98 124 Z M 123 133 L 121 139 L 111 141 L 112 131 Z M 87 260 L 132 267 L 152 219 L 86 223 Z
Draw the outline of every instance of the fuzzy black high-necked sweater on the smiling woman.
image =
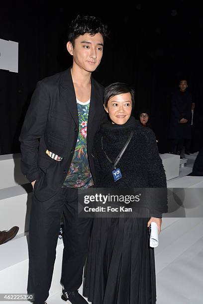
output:
M 133 137 L 116 166 L 120 169 L 122 178 L 114 182 L 112 164 L 102 151 L 101 138 L 103 137 L 103 150 L 114 161 L 132 130 Z M 93 154 L 97 188 L 162 188 L 159 193 L 156 190 L 153 192 L 154 189 L 149 191 L 150 198 L 154 196 L 154 199 L 149 199 L 147 204 L 151 216 L 161 217 L 161 213 L 167 212 L 166 174 L 151 129 L 143 128 L 133 117 L 124 125 L 105 123 L 96 135 Z M 151 203 L 153 206 L 149 206 Z

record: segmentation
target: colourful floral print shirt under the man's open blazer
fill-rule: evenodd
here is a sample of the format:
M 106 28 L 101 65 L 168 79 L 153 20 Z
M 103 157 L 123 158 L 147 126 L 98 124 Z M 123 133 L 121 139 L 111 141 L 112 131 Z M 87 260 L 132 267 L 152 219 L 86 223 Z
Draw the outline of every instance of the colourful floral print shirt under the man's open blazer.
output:
M 90 100 L 80 102 L 77 100 L 79 117 L 79 134 L 72 163 L 64 181 L 63 187 L 86 189 L 94 185 L 90 172 L 87 151 L 87 128 Z

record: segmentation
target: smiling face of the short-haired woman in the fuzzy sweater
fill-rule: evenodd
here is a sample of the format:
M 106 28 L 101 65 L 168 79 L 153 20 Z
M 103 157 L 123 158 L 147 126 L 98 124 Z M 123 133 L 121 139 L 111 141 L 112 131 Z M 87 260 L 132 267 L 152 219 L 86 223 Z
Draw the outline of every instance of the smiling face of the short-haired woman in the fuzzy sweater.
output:
M 110 97 L 104 109 L 112 124 L 123 125 L 128 121 L 132 111 L 131 94 L 128 92 Z

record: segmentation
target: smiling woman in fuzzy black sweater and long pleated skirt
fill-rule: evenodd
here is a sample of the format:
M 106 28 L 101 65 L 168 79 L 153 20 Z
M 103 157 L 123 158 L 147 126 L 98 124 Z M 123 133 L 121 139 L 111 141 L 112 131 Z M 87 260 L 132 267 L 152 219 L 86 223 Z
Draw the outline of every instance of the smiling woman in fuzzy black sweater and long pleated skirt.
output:
M 105 88 L 104 108 L 111 121 L 102 125 L 95 138 L 95 186 L 166 190 L 155 135 L 130 116 L 133 105 L 133 90 L 125 83 Z M 114 162 L 132 131 L 131 141 L 116 166 L 122 177 L 114 181 L 109 159 Z M 84 296 L 92 304 L 156 303 L 154 249 L 149 246 L 148 227 L 156 222 L 160 232 L 167 195 L 157 197 L 156 203 L 156 208 L 148 205 L 148 216 L 143 218 L 95 218 L 84 287 Z

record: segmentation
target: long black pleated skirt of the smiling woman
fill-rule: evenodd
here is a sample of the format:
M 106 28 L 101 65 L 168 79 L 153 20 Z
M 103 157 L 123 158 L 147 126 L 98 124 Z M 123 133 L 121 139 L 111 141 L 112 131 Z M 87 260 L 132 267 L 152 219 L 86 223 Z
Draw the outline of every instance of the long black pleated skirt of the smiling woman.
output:
M 85 269 L 92 304 L 155 304 L 154 248 L 148 218 L 96 218 Z

